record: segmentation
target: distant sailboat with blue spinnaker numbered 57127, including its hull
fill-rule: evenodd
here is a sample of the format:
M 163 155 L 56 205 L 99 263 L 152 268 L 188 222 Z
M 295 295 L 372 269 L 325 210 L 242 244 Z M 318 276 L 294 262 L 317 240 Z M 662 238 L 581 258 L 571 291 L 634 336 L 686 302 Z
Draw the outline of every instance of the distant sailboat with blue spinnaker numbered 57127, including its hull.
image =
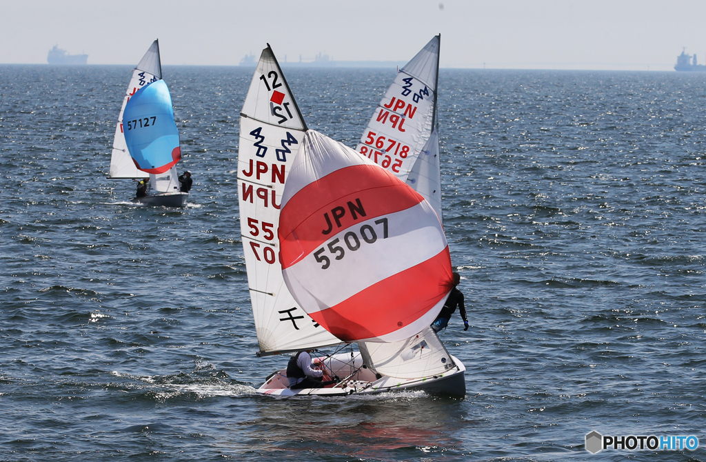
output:
M 141 94 L 142 90 L 157 82 L 161 83 L 152 87 L 147 94 Z M 172 146 L 174 143 L 176 146 Z M 133 70 L 123 98 L 113 138 L 108 178 L 149 178 L 155 192 L 132 199 L 133 202 L 148 206 L 183 207 L 189 193 L 180 191 L 176 167 L 180 158 L 179 132 L 174 124 L 172 98 L 162 81 L 160 44 L 155 40 Z

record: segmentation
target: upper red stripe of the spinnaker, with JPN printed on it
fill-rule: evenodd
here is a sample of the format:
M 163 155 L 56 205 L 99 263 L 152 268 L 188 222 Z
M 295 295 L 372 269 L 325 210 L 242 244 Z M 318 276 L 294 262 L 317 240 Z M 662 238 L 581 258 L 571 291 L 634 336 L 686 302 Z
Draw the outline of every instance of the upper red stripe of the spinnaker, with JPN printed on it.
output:
M 357 207 L 356 199 L 360 200 L 365 215 L 357 213 L 354 219 L 348 202 Z M 282 268 L 304 259 L 327 239 L 356 223 L 407 210 L 421 201 L 424 198 L 417 191 L 377 165 L 345 167 L 311 182 L 282 207 L 277 230 Z M 331 212 L 339 206 L 345 211 L 340 227 Z M 328 234 L 323 234 L 329 227 L 325 213 L 333 225 Z

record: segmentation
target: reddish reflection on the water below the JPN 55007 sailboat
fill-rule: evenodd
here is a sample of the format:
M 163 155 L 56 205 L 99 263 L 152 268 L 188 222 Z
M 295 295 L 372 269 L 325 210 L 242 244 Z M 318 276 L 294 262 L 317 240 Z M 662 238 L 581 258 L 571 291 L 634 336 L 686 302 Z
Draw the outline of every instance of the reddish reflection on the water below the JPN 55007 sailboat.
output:
M 465 422 L 462 400 L 421 391 L 341 398 L 263 398 L 258 417 L 242 422 L 251 451 L 400 460 L 453 451 L 463 442 L 450 434 Z M 239 426 L 240 426 L 239 425 Z M 296 456 L 295 456 L 296 457 Z

